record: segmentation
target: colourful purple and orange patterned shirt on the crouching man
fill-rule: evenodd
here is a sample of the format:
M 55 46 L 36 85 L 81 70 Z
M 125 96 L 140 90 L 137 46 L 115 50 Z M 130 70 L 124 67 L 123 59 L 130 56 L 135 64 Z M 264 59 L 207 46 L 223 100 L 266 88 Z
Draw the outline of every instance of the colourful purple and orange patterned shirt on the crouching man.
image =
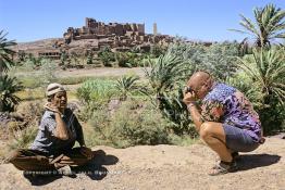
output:
M 219 122 L 246 130 L 255 141 L 260 141 L 261 123 L 252 104 L 237 89 L 225 84 L 214 84 L 203 98 L 203 122 Z

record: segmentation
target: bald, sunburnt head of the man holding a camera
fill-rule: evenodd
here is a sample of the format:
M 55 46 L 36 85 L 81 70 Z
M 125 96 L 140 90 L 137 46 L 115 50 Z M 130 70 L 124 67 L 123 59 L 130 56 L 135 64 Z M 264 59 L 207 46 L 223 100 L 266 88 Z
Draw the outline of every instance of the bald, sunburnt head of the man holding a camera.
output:
M 190 87 L 196 96 L 202 99 L 213 85 L 211 75 L 207 72 L 196 72 L 187 81 L 187 86 Z

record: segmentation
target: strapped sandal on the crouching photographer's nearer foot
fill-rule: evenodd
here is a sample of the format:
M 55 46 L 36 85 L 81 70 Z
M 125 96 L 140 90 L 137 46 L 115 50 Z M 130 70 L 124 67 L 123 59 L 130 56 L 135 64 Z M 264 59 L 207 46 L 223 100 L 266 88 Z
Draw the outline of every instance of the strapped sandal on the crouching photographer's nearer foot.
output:
M 233 160 L 232 162 L 224 162 L 221 161 L 220 164 L 218 164 L 216 166 L 214 166 L 212 168 L 212 172 L 209 173 L 210 176 L 218 176 L 221 174 L 226 174 L 226 173 L 233 173 L 235 170 L 237 170 L 237 164 L 236 162 Z

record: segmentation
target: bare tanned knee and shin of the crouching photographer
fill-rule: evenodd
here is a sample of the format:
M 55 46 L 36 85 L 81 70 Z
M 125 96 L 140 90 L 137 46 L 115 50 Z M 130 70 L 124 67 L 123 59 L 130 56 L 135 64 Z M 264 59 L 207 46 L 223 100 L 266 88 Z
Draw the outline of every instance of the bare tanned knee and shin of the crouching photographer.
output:
M 200 137 L 214 152 L 218 153 L 221 161 L 233 161 L 231 150 L 225 145 L 225 132 L 221 123 L 203 123 L 200 128 Z

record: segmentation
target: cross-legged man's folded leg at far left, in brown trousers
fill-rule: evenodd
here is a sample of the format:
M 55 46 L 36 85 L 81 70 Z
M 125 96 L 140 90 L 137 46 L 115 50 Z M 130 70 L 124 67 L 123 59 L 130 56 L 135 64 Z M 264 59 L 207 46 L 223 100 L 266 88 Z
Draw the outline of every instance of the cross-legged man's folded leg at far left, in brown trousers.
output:
M 7 159 L 7 162 L 12 163 L 20 170 L 54 169 L 54 166 L 49 164 L 49 159 L 36 150 L 18 149 Z

